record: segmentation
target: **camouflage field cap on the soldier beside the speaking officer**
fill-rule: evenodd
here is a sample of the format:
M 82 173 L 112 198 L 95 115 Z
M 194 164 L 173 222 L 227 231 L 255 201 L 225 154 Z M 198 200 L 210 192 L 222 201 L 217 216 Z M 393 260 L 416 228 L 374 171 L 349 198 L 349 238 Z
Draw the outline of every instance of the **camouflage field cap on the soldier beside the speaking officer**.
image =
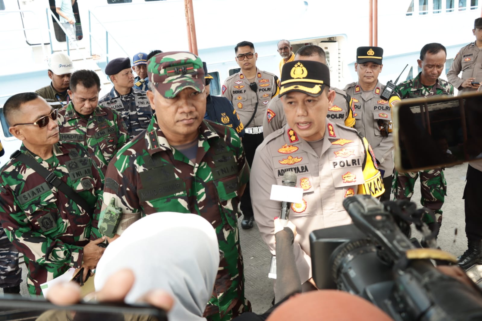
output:
M 202 61 L 191 52 L 158 53 L 147 62 L 147 76 L 157 91 L 168 99 L 185 88 L 204 90 Z

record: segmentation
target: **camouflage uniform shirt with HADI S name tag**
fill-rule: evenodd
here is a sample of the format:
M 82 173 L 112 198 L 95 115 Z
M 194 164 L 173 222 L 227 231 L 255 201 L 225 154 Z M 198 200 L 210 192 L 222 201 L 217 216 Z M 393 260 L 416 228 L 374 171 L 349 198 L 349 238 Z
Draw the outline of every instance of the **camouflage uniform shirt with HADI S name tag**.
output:
M 59 111 L 57 119 L 60 141 L 75 141 L 87 147 L 90 157 L 103 174 L 112 157 L 129 140 L 122 117 L 110 108 L 97 106 L 86 119 L 70 103 Z

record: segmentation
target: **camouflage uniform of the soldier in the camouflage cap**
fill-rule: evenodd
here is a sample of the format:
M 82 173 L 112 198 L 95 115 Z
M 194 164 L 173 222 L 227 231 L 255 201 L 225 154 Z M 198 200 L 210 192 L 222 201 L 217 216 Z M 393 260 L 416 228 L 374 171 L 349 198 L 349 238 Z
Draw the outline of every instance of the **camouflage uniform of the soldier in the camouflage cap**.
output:
M 224 252 L 213 296 L 204 315 L 231 320 L 249 310 L 238 231 L 238 190 L 249 179 L 241 140 L 233 129 L 203 120 L 196 164 L 171 148 L 156 120 L 127 143 L 107 168 L 104 189 L 122 209 L 118 234 L 142 216 L 172 211 L 194 213 L 212 222 Z

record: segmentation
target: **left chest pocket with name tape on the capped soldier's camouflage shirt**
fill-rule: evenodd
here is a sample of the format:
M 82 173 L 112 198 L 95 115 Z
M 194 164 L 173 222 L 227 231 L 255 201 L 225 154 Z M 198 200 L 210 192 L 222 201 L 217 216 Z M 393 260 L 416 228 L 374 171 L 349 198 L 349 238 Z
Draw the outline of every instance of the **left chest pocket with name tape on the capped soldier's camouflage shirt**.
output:
M 174 171 L 172 164 L 165 163 L 139 173 L 142 188 L 137 189 L 137 196 L 141 206 L 188 213 L 186 184 Z

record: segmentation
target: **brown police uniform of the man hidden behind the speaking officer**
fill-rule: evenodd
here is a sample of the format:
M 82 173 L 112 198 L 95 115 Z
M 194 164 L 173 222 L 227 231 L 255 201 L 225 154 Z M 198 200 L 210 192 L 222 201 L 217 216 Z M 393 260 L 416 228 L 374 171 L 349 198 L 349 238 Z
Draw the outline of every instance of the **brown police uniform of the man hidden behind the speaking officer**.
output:
M 353 106 L 351 105 L 350 96 L 341 89 L 334 87 L 330 87 L 330 89 L 335 90 L 336 96 L 333 106 L 328 109 L 327 120 L 340 125 L 354 127 L 355 118 L 353 117 Z M 268 137 L 269 134 L 281 129 L 284 125 L 286 125 L 286 116 L 284 115 L 283 103 L 281 103 L 281 98 L 276 96 L 268 103 L 266 117 L 263 120 L 263 136 L 265 138 Z

